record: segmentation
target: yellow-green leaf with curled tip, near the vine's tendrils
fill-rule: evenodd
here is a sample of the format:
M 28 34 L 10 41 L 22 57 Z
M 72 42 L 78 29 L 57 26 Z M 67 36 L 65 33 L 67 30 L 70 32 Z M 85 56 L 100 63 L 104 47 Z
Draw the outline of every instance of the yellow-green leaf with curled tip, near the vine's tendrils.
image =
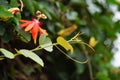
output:
M 57 43 L 64 47 L 66 50 L 70 50 L 71 53 L 73 53 L 73 47 L 63 37 L 58 37 Z

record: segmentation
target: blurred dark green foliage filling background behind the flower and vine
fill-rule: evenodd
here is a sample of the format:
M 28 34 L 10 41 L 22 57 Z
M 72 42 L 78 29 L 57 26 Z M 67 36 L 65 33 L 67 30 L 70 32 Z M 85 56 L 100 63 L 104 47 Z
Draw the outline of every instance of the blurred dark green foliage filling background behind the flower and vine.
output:
M 9 48 L 27 48 L 35 47 L 29 33 L 20 30 L 19 19 L 30 19 L 40 10 L 48 18 L 41 20 L 43 28 L 47 30 L 51 40 L 56 42 L 56 37 L 69 33 L 64 36 L 66 39 L 72 38 L 76 33 L 84 33 L 80 38 L 89 43 L 89 39 L 94 36 L 98 44 L 94 47 L 95 54 L 91 54 L 89 47 L 83 45 L 73 45 L 74 54 L 69 56 L 84 61 L 85 52 L 88 53 L 94 80 L 119 80 L 120 70 L 114 68 L 110 62 L 113 58 L 111 49 L 116 33 L 120 32 L 120 22 L 114 22 L 113 12 L 110 5 L 117 5 L 115 0 L 22 0 L 24 4 L 23 11 L 16 15 L 7 10 L 12 7 L 21 7 L 18 0 L 0 0 L 0 42 L 7 44 Z M 87 1 L 92 1 L 92 4 Z M 95 5 L 100 11 L 89 10 L 89 5 Z M 92 13 L 91 11 L 95 11 Z M 4 14 L 3 14 L 4 13 Z M 6 21 L 7 19 L 7 21 Z M 77 25 L 77 29 L 65 30 L 72 25 Z M 62 34 L 58 34 L 61 30 Z M 18 36 L 19 35 L 19 36 Z M 106 42 L 110 40 L 110 42 Z M 8 45 L 9 44 L 9 45 Z M 34 46 L 33 46 L 34 45 Z M 3 47 L 2 45 L 0 47 Z M 84 48 L 83 48 L 84 47 Z M 62 48 L 61 48 L 62 49 Z M 48 53 L 44 50 L 36 53 L 42 57 L 45 67 L 41 69 L 38 64 L 29 59 L 4 60 L 0 61 L 0 79 L 1 80 L 91 80 L 88 64 L 79 64 L 71 61 L 65 55 L 61 54 L 56 48 Z M 64 49 L 63 49 L 64 50 Z M 17 62 L 19 62 L 17 64 Z M 22 63 L 21 63 L 22 62 Z M 25 65 L 26 64 L 26 65 Z M 22 78 L 22 77 L 23 78 Z M 27 78 L 27 79 L 26 79 Z

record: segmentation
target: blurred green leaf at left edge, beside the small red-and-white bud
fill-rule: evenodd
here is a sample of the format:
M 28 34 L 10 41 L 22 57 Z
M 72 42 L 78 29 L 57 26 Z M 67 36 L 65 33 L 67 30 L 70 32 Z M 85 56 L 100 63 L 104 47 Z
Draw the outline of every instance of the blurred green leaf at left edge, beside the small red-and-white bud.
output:
M 0 6 L 0 18 L 3 20 L 7 20 L 10 17 L 13 17 L 13 14 L 7 11 L 3 6 Z

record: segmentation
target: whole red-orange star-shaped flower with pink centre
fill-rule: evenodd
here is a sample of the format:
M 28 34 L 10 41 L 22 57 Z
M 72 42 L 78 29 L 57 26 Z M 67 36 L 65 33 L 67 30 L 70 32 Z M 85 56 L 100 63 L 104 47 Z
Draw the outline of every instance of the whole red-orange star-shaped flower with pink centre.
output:
M 31 35 L 32 35 L 32 38 L 33 38 L 35 44 L 36 44 L 38 33 L 40 35 L 41 34 L 48 35 L 46 30 L 41 28 L 42 27 L 42 22 L 38 21 L 35 18 L 32 18 L 31 21 L 20 20 L 20 22 L 23 22 L 23 24 L 20 25 L 21 28 L 25 28 L 25 31 L 30 31 L 31 32 Z

